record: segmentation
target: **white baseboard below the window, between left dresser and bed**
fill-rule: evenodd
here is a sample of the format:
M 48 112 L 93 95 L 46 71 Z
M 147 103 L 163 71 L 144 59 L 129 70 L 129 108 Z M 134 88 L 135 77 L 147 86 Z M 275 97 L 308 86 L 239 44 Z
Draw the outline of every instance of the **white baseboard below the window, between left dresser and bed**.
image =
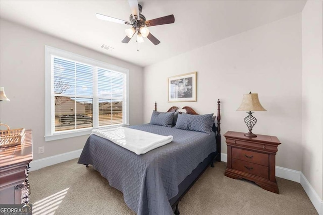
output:
M 30 171 L 39 170 L 44 167 L 48 167 L 54 164 L 59 164 L 75 158 L 79 158 L 81 153 L 82 153 L 82 150 L 76 150 L 76 151 L 67 152 L 60 155 L 50 156 L 47 158 L 42 158 L 42 159 L 32 161 L 30 162 Z

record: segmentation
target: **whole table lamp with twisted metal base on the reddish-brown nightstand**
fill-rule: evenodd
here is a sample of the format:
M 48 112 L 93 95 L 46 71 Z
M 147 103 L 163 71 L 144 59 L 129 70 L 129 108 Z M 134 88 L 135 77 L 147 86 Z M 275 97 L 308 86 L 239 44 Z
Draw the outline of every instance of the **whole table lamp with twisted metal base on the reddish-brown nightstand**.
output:
M 267 111 L 261 106 L 258 94 L 251 92 L 249 94 L 244 94 L 241 105 L 237 111 L 249 111 L 247 112 L 248 116 L 244 118 L 244 122 L 248 126 L 249 132 L 245 133 L 244 135 L 248 137 L 256 137 L 257 135 L 252 133 L 252 128 L 256 124 L 257 119 L 252 116 L 253 112 L 251 111 Z

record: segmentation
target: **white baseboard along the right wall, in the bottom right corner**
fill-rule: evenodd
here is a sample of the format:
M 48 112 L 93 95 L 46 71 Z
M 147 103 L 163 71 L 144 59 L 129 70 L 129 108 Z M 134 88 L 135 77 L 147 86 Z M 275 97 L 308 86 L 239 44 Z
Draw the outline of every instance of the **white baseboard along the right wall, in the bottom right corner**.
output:
M 311 200 L 312 204 L 314 205 L 315 209 L 317 210 L 319 215 L 323 215 L 323 201 L 317 195 L 311 184 L 307 181 L 306 177 L 303 173 L 301 173 L 300 183 L 304 188 L 306 194 L 308 195 L 309 199 Z

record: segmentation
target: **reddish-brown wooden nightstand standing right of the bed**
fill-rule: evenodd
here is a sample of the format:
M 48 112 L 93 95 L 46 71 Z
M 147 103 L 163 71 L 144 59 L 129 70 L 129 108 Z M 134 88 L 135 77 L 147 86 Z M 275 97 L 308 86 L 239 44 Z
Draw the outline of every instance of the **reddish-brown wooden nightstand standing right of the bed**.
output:
M 247 137 L 242 132 L 224 134 L 228 147 L 228 166 L 225 176 L 247 179 L 265 190 L 278 193 L 275 177 L 275 156 L 278 145 L 276 136 Z

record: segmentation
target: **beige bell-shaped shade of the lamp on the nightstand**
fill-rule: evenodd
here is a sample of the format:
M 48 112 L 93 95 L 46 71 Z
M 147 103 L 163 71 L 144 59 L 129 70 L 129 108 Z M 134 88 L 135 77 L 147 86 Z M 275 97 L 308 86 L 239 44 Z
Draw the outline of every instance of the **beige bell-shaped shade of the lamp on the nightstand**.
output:
M 242 98 L 242 102 L 240 107 L 237 109 L 237 111 L 267 111 L 264 109 L 258 98 L 257 93 L 249 93 L 244 94 Z

